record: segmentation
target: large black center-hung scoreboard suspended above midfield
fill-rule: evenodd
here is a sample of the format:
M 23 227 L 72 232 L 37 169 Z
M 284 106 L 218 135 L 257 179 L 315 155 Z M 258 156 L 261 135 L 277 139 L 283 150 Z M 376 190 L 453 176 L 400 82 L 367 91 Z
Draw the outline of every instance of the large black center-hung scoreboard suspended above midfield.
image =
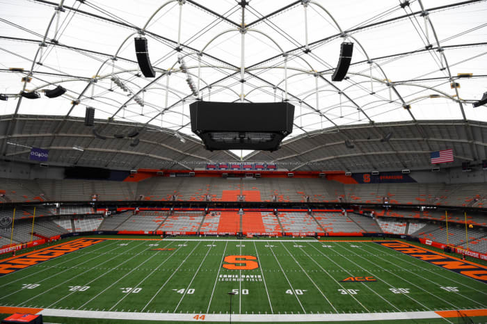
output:
M 292 133 L 294 106 L 289 102 L 232 103 L 197 101 L 189 105 L 191 131 L 206 149 L 276 151 Z

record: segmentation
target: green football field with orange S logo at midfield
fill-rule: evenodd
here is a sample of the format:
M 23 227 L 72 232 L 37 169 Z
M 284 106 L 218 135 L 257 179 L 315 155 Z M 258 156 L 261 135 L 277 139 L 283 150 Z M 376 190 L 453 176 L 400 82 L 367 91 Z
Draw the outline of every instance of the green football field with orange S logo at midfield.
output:
M 0 277 L 0 306 L 185 321 L 228 321 L 230 307 L 232 321 L 269 322 L 485 313 L 486 283 L 390 248 L 401 244 L 79 238 L 58 245 L 61 252 L 11 259 Z

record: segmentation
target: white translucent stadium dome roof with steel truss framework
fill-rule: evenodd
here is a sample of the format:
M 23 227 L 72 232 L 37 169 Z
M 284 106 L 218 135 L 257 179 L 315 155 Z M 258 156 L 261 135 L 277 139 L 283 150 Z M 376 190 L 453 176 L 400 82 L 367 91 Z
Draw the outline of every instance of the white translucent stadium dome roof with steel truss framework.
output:
M 455 149 L 456 163 L 487 156 L 487 109 L 472 106 L 487 90 L 486 1 L 1 3 L 4 159 L 29 161 L 26 147 L 42 147 L 63 165 L 155 168 L 154 158 L 194 168 L 243 154 L 289 170 L 370 170 L 424 168 L 429 152 L 445 148 Z M 139 70 L 140 36 L 154 78 Z M 346 79 L 334 82 L 342 42 L 353 42 L 353 57 Z M 57 86 L 66 92 L 42 94 Z M 198 98 L 289 100 L 294 131 L 273 153 L 205 152 L 189 119 Z M 110 140 L 83 129 L 86 107 Z M 117 131 L 136 136 L 114 139 Z M 79 158 L 72 147 L 84 149 Z M 138 159 L 113 163 L 127 152 Z

